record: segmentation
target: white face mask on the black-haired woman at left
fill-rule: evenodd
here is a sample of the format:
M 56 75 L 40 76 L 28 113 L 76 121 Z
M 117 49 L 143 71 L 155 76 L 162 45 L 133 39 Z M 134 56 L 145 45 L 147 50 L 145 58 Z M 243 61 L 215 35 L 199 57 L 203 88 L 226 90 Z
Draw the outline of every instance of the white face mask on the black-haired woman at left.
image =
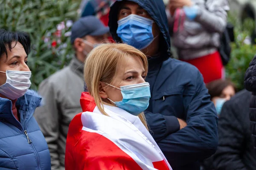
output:
M 0 86 L 0 94 L 3 94 L 9 99 L 18 99 L 23 96 L 29 89 L 31 82 L 31 71 L 0 71 L 6 73 L 6 83 Z

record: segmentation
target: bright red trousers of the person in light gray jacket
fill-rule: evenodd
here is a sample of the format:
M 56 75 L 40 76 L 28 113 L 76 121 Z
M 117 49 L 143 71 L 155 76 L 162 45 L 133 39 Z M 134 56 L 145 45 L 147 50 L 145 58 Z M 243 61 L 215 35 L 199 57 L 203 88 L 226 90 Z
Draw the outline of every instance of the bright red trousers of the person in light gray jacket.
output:
M 183 61 L 195 65 L 203 75 L 205 83 L 225 77 L 224 67 L 218 51 L 207 56 Z

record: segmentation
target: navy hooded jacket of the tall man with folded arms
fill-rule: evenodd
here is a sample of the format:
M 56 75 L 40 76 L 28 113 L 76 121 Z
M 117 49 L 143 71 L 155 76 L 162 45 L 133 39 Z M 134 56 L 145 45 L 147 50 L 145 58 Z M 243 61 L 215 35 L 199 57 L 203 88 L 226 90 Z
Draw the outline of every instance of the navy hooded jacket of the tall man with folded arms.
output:
M 122 0 L 118 0 L 122 1 Z M 199 160 L 215 153 L 217 116 L 201 73 L 192 65 L 170 57 L 170 37 L 162 0 L 131 0 L 142 6 L 160 28 L 160 55 L 148 60 L 146 82 L 151 99 L 145 111 L 151 134 L 174 170 L 199 170 Z M 109 27 L 116 41 L 119 2 L 113 4 Z M 180 129 L 177 118 L 187 126 Z

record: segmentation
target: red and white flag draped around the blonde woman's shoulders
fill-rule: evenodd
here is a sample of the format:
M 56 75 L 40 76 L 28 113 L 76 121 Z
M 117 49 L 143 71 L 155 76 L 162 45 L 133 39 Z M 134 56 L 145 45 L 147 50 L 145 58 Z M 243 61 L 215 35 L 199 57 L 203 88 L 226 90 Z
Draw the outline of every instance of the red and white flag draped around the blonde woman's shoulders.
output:
M 105 116 L 87 93 L 80 102 L 83 113 L 67 135 L 66 170 L 172 170 L 137 116 L 106 105 Z

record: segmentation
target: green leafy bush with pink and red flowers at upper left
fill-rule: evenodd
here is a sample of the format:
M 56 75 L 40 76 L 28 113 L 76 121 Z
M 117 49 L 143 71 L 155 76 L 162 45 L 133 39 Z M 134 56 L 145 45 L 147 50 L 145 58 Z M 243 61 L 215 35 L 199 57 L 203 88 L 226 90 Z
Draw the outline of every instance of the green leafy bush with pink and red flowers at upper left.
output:
M 25 31 L 31 37 L 29 68 L 32 89 L 73 56 L 66 26 L 77 17 L 79 2 L 74 0 L 3 0 L 0 1 L 0 28 Z M 62 23 L 61 23 L 62 22 Z M 63 29 L 57 31 L 57 24 Z

